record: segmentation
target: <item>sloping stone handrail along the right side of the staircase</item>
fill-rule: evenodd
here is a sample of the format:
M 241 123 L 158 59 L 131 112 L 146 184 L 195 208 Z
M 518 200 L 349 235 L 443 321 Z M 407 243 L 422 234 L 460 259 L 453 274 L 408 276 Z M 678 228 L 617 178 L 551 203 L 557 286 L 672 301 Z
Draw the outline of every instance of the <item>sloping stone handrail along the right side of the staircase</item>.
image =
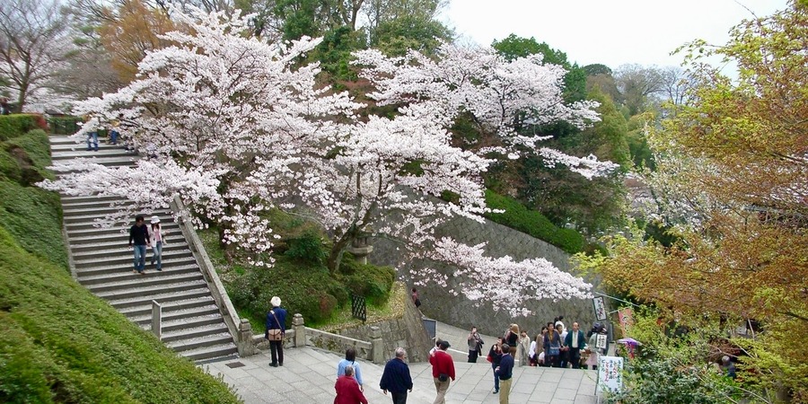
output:
M 191 219 L 186 209 L 185 204 L 179 196 L 174 196 L 171 202 L 171 210 L 176 212 L 177 224 L 180 225 L 180 231 L 188 241 L 189 248 L 197 259 L 199 268 L 202 270 L 202 276 L 205 277 L 207 287 L 210 289 L 210 294 L 213 295 L 216 305 L 222 312 L 224 323 L 227 324 L 227 329 L 233 335 L 236 347 L 239 349 L 239 356 L 251 356 L 255 354 L 255 345 L 252 341 L 252 326 L 250 321 L 246 319 L 239 319 L 238 312 L 236 312 L 233 303 L 230 301 L 230 296 L 224 290 L 224 284 L 219 279 L 219 275 L 211 262 L 210 257 L 207 256 L 205 246 L 197 235 L 197 231 L 191 225 Z

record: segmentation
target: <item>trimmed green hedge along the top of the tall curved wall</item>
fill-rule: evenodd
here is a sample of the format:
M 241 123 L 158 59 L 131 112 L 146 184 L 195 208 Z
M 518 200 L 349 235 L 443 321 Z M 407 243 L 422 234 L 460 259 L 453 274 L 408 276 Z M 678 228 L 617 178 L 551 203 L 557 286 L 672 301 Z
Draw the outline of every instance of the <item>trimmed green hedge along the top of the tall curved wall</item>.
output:
M 487 214 L 486 217 L 493 222 L 528 233 L 570 254 L 584 250 L 586 242 L 581 233 L 572 229 L 562 229 L 552 224 L 540 212 L 528 209 L 514 198 L 504 197 L 491 190 L 486 190 L 486 204 L 492 209 L 505 210 L 501 214 Z

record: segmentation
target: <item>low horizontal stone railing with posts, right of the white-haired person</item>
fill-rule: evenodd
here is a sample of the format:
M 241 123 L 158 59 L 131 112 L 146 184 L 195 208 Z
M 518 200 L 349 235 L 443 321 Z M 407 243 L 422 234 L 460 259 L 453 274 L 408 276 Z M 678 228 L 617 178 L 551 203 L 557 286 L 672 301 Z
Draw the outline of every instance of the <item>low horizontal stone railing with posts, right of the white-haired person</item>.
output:
M 294 347 L 319 347 L 339 355 L 344 355 L 348 347 L 356 349 L 356 356 L 362 357 L 374 364 L 384 363 L 384 343 L 382 331 L 378 327 L 371 328 L 371 341 L 348 338 L 333 334 L 321 329 L 311 329 L 303 322 L 303 315 L 295 313 L 292 319 L 292 329 L 287 329 L 284 336 L 284 345 L 291 340 Z M 255 345 L 264 344 L 264 336 L 254 335 L 252 341 Z

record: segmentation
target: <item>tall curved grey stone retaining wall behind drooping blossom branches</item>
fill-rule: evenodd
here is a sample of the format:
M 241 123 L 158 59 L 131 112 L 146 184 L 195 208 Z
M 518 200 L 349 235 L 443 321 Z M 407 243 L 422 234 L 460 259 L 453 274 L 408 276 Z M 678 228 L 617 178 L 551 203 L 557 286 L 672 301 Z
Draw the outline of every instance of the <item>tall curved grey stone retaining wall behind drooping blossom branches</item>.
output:
M 436 229 L 435 236 L 444 236 L 469 245 L 487 242 L 486 252 L 492 257 L 510 256 L 516 260 L 543 257 L 556 267 L 569 271 L 569 255 L 547 242 L 542 242 L 528 234 L 521 233 L 501 224 L 491 221 L 478 223 L 461 217 L 453 218 Z M 384 239 L 373 240 L 373 254 L 368 258 L 375 265 L 389 265 L 398 268 L 399 279 L 412 285 L 409 278 L 409 268 L 436 268 L 449 275 L 450 282 L 457 282 L 452 277 L 454 268 L 445 264 L 435 264 L 428 261 L 408 260 L 396 242 Z M 592 280 L 589 280 L 592 282 Z M 520 285 L 503 284 L 502 287 L 518 288 Z M 506 312 L 497 312 L 490 303 L 472 302 L 462 295 L 452 295 L 449 288 L 435 284 L 418 286 L 421 299 L 421 311 L 428 317 L 442 321 L 463 329 L 477 326 L 483 334 L 499 336 L 505 331 L 508 324 L 515 322 L 523 329 L 535 336 L 541 327 L 552 321 L 558 315 L 564 316 L 564 323 L 569 328 L 574 321 L 581 325 L 581 329 L 588 329 L 594 321 L 593 305 L 591 300 L 551 299 L 529 300 L 527 307 L 535 314 L 530 317 L 512 318 Z M 560 297 L 560 296 L 559 296 Z M 440 336 L 438 336 L 440 337 Z

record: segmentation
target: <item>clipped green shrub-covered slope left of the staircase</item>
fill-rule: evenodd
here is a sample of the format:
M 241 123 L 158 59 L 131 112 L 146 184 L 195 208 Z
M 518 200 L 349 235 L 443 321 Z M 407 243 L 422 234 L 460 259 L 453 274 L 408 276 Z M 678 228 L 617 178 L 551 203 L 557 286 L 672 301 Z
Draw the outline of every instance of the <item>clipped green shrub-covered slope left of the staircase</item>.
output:
M 34 168 L 49 163 L 41 158 L 47 136 L 5 138 L 0 158 L 14 144 L 30 152 Z M 238 401 L 223 383 L 76 284 L 65 265 L 58 199 L 4 174 L 0 402 Z

